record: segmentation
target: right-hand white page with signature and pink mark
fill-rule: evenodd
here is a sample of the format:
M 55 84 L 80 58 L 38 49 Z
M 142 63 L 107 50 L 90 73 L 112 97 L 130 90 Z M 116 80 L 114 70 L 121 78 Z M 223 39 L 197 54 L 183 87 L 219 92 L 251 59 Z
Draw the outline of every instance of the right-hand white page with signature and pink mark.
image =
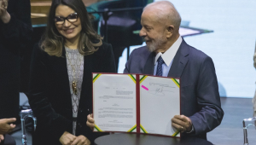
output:
M 180 136 L 171 121 L 180 114 L 179 79 L 143 75 L 140 78 L 141 132 Z

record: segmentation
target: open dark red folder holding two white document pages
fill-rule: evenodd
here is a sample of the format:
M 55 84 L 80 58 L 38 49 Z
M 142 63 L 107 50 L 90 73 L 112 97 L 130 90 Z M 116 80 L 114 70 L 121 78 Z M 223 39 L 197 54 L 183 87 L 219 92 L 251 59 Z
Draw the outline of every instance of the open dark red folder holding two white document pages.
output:
M 180 136 L 180 80 L 143 74 L 93 73 L 94 131 Z

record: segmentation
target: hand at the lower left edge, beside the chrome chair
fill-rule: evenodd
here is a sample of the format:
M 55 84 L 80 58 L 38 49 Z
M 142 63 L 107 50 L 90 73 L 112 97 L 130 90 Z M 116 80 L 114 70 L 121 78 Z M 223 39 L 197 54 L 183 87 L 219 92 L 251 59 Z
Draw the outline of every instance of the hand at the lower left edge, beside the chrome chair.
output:
M 4 135 L 9 133 L 10 131 L 13 131 L 16 125 L 10 124 L 15 122 L 16 119 L 0 119 L 0 135 Z M 10 125 L 9 125 L 10 124 Z

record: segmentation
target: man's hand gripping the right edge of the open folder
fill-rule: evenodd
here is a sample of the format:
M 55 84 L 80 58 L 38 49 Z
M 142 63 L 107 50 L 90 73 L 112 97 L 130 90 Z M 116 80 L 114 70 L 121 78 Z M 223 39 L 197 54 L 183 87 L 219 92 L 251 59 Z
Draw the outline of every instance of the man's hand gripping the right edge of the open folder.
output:
M 189 132 L 192 130 L 191 119 L 184 115 L 175 115 L 172 118 L 172 126 L 181 132 Z

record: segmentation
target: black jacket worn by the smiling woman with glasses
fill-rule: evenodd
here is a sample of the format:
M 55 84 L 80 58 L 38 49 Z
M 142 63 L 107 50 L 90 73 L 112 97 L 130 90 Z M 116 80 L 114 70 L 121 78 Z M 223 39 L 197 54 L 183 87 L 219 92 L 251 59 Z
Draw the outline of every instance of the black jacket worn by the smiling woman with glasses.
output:
M 64 131 L 72 133 L 73 107 L 67 74 L 66 52 L 61 57 L 50 56 L 36 47 L 32 55 L 30 92 L 32 111 L 38 118 L 33 144 L 61 144 Z M 93 142 L 98 133 L 86 125 L 88 109 L 92 110 L 92 74 L 114 73 L 115 65 L 110 44 L 103 43 L 93 54 L 84 56 L 84 78 L 79 101 L 76 135 Z

